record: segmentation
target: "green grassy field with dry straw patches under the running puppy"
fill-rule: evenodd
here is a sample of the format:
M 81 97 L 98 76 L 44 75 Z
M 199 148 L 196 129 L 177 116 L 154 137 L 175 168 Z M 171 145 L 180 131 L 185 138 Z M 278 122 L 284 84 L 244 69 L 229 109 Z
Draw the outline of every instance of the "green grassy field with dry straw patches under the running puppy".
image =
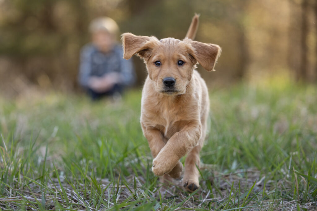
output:
M 191 194 L 159 194 L 140 97 L 0 97 L 0 210 L 317 210 L 317 86 L 210 89 Z

